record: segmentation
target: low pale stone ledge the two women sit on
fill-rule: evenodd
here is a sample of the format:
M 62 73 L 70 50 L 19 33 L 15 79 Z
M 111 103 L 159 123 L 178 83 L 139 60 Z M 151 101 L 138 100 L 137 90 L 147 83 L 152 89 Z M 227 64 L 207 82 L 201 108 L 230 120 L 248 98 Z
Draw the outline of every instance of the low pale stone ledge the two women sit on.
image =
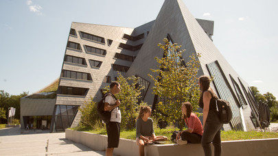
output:
M 66 129 L 66 139 L 84 144 L 95 151 L 105 151 L 107 146 L 107 136 L 83 131 L 73 131 Z M 212 146 L 212 145 L 211 145 Z M 278 155 L 278 138 L 262 140 L 236 140 L 222 142 L 222 155 Z M 213 146 L 212 146 L 213 151 Z M 151 156 L 169 156 L 169 155 L 204 155 L 200 144 L 152 144 L 145 147 L 146 155 Z M 138 146 L 135 140 L 120 139 L 119 147 L 114 150 L 115 155 L 121 156 L 139 156 Z

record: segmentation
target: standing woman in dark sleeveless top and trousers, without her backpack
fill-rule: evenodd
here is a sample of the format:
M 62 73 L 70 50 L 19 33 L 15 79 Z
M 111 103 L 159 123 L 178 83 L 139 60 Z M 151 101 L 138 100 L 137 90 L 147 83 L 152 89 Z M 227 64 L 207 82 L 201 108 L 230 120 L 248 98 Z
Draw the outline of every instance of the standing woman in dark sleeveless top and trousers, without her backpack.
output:
M 221 129 L 223 124 L 220 122 L 219 113 L 216 109 L 216 99 L 218 96 L 209 87 L 211 79 L 207 76 L 199 77 L 198 85 L 202 92 L 199 100 L 199 106 L 202 108 L 202 148 L 205 156 L 211 156 L 212 142 L 214 146 L 214 155 L 220 156 L 222 153 Z

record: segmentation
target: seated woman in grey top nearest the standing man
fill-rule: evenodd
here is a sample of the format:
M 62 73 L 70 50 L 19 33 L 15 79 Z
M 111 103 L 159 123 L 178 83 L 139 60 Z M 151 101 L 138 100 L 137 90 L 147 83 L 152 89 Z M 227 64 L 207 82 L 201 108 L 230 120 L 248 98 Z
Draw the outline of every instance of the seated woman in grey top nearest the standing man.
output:
M 139 146 L 139 155 L 144 155 L 144 146 L 148 142 L 165 141 L 167 137 L 156 136 L 150 114 L 152 109 L 148 106 L 141 106 L 136 121 L 136 143 Z

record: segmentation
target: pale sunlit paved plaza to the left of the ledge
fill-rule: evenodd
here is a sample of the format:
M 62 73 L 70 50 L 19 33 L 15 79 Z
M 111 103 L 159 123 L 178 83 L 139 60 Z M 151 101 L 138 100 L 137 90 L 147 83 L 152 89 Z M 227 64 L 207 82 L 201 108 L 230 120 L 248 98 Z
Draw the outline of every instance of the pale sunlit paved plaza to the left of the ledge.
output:
M 48 152 L 46 152 L 47 140 Z M 93 151 L 91 148 L 65 139 L 65 133 L 21 133 L 19 127 L 0 129 L 0 155 L 81 155 L 100 156 L 104 151 Z

